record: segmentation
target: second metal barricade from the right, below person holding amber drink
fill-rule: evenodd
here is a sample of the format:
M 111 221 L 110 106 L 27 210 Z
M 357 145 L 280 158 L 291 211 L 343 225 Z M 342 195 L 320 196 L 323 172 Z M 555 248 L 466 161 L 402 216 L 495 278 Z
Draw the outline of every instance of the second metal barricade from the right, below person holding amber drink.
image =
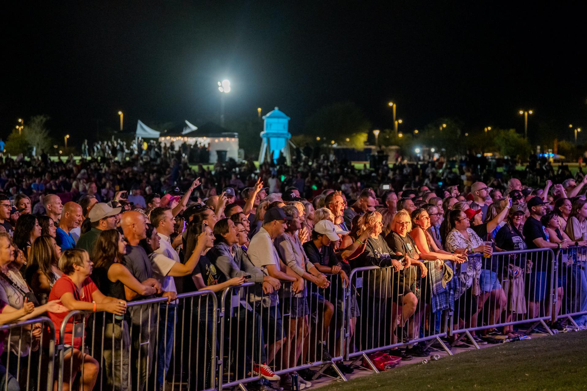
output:
M 551 318 L 556 259 L 549 248 L 494 252 L 491 257 L 470 254 L 455 264 L 459 285 L 451 316 L 450 335 L 467 336 L 479 349 L 471 332 L 528 323 L 527 331 Z

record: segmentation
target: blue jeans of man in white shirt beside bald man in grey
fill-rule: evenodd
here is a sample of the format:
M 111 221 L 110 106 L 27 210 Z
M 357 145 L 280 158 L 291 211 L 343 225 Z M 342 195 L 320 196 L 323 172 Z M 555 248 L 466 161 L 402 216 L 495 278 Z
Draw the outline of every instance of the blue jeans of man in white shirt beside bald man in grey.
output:
M 157 333 L 157 390 L 167 376 L 171 353 L 173 353 L 173 333 L 176 321 L 176 304 L 161 303 L 159 306 L 159 331 Z

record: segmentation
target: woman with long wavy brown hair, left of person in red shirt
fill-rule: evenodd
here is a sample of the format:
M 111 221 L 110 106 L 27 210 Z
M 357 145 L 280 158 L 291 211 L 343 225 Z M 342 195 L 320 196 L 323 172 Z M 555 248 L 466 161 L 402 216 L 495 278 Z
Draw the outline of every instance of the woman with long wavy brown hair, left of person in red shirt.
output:
M 33 242 L 25 277 L 39 304 L 47 302 L 53 284 L 63 274 L 58 267 L 60 256 L 61 247 L 49 235 L 38 237 Z

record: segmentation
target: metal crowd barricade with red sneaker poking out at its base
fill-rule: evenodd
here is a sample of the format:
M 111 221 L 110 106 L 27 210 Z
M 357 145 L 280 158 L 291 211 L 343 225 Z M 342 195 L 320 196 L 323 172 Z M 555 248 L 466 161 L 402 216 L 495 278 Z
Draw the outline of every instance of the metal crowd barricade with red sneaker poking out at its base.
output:
M 325 289 L 305 281 L 305 296 L 292 291 L 292 282 L 274 294 L 252 282 L 222 292 L 218 389 L 259 380 L 252 369 L 264 362 L 277 375 L 331 367 L 346 381 L 336 366 L 343 359 L 346 286 L 339 274 L 327 277 Z

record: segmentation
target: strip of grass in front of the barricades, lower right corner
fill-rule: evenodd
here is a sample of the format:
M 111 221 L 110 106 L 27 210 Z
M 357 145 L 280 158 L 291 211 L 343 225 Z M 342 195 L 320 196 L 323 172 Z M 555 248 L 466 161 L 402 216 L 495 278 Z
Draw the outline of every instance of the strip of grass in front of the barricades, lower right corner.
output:
M 425 365 L 406 365 L 320 389 L 585 390 L 586 353 L 587 331 L 559 333 L 530 341 L 470 350 Z

